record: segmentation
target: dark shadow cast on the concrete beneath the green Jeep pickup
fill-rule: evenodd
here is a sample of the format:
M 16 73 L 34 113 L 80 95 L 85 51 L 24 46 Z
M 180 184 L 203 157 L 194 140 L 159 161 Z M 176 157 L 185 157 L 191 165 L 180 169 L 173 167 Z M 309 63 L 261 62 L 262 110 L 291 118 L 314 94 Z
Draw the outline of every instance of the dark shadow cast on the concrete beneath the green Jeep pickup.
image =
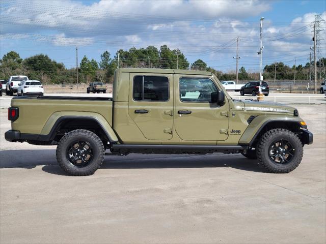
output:
M 0 168 L 32 169 L 42 166 L 47 173 L 68 175 L 58 165 L 55 149 L 3 150 L 0 151 Z M 266 172 L 257 160 L 241 155 L 142 155 L 106 156 L 101 169 L 146 169 L 146 168 L 235 168 L 244 171 Z

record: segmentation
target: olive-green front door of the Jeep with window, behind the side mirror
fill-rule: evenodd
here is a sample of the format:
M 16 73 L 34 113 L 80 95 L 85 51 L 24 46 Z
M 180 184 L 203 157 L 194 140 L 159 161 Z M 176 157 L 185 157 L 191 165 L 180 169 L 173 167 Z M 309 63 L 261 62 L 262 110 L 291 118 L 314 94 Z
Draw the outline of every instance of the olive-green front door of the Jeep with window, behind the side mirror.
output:
M 194 75 L 175 75 L 175 127 L 182 140 L 222 141 L 228 138 L 228 100 L 211 102 L 218 91 L 213 79 Z

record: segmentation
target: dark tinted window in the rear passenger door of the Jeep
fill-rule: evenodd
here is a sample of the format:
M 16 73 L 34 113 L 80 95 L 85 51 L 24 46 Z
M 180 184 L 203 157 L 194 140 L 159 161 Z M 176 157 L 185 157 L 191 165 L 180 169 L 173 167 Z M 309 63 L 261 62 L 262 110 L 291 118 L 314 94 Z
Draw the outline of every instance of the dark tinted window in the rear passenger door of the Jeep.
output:
M 134 101 L 168 101 L 169 78 L 166 76 L 135 76 L 132 97 Z

